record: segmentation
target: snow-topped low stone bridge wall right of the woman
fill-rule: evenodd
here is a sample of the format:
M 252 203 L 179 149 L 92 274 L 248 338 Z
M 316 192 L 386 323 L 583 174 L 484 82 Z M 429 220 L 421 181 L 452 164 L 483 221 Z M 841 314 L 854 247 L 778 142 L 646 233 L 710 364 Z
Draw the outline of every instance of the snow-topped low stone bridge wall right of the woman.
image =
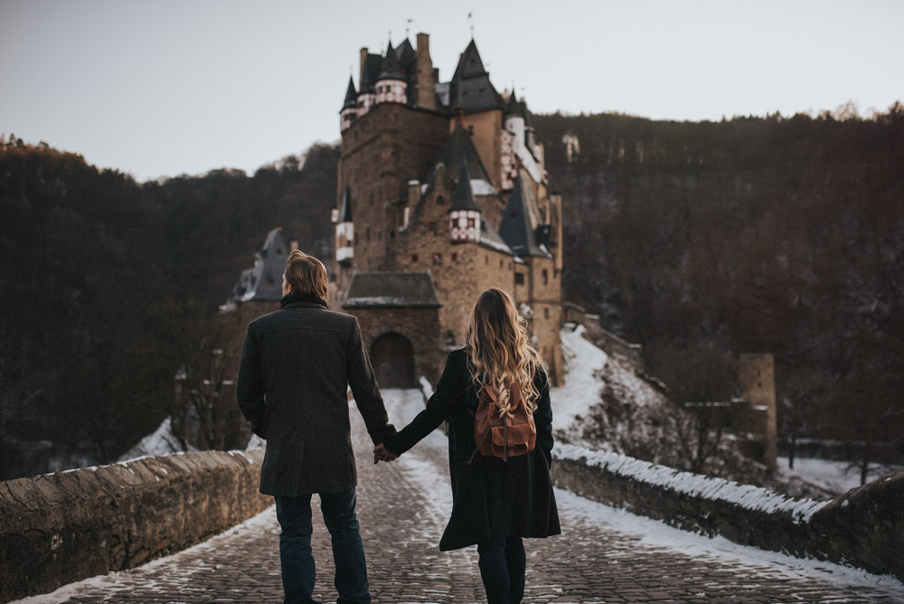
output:
M 904 470 L 830 502 L 562 445 L 553 481 L 594 501 L 708 536 L 904 580 Z

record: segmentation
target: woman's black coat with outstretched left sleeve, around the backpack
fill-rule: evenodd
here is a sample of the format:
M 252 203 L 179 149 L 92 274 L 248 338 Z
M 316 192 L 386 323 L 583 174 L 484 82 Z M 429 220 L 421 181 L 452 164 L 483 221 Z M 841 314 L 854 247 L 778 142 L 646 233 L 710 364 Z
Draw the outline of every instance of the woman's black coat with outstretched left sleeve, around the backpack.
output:
M 457 350 L 448 355 L 446 369 L 439 378 L 437 392 L 398 434 L 383 445 L 400 455 L 448 421 L 449 473 L 452 478 L 452 517 L 439 542 L 439 549 L 484 543 L 500 537 L 547 537 L 559 534 L 559 513 L 552 493 L 552 409 L 550 387 L 541 369 L 534 384 L 541 393 L 533 419 L 537 425 L 537 446 L 527 455 L 485 458 L 474 453 L 474 416 L 478 391 L 467 368 L 467 354 Z

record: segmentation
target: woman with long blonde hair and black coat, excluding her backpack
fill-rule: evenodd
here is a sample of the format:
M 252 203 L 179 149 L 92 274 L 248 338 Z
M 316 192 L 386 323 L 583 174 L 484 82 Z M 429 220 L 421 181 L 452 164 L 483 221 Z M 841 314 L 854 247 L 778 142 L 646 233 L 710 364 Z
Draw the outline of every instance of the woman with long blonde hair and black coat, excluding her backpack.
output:
M 427 408 L 398 434 L 374 448 L 374 460 L 401 455 L 448 422 L 452 517 L 440 551 L 477 545 L 478 566 L 490 604 L 520 602 L 524 594 L 522 537 L 560 533 L 550 480 L 552 411 L 541 360 L 527 341 L 524 319 L 501 289 L 477 299 L 463 349 L 448 355 L 446 369 Z M 481 389 L 499 392 L 499 413 L 509 411 L 518 384 L 537 427 L 536 448 L 503 458 L 474 455 L 474 413 Z M 473 461 L 468 460 L 473 457 Z

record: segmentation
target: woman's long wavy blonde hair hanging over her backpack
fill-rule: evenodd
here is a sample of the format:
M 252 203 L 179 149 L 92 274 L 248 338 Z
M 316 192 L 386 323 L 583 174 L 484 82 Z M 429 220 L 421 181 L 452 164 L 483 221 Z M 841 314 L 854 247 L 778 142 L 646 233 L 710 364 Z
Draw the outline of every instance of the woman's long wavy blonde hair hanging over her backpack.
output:
M 540 392 L 533 384 L 542 362 L 527 340 L 527 321 L 518 314 L 512 297 L 490 288 L 477 298 L 465 330 L 471 380 L 480 389 L 491 386 L 499 393 L 499 416 L 512 416 L 511 384 L 521 389 L 529 411 L 537 408 Z

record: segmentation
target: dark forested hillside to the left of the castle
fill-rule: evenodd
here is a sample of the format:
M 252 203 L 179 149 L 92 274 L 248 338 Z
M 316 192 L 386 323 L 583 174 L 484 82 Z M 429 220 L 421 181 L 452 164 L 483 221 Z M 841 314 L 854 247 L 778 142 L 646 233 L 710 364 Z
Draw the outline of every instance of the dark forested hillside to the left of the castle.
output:
M 4 142 L 0 479 L 108 463 L 171 414 L 191 339 L 267 232 L 329 253 L 335 158 L 137 184 Z

